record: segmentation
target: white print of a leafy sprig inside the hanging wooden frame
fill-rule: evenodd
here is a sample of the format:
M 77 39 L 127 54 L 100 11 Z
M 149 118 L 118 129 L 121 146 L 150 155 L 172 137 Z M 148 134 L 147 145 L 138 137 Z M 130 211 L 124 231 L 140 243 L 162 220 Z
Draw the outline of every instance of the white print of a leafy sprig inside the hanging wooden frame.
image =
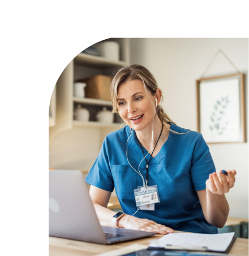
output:
M 206 142 L 241 140 L 239 79 L 200 82 L 200 133 Z

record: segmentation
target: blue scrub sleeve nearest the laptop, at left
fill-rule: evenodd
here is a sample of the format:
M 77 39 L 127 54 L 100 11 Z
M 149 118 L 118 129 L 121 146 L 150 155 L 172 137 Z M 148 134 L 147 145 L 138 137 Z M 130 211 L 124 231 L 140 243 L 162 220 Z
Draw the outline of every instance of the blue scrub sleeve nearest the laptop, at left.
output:
M 108 156 L 108 142 L 105 138 L 100 153 L 98 153 L 97 159 L 89 171 L 85 182 L 95 187 L 101 188 L 112 192 L 114 190 L 113 175 L 111 175 L 109 156 Z

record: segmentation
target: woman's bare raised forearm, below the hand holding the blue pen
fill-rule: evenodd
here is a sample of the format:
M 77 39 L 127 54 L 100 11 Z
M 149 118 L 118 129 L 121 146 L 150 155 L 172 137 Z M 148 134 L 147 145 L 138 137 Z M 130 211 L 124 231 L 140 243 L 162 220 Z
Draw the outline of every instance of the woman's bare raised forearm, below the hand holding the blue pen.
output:
M 217 195 L 207 191 L 207 221 L 209 224 L 222 228 L 226 224 L 229 214 L 229 204 L 225 194 Z

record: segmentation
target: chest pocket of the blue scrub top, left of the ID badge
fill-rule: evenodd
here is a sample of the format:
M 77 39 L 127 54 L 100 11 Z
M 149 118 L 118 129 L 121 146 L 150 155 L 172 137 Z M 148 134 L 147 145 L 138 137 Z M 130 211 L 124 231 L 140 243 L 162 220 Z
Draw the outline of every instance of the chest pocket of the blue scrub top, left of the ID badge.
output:
M 130 165 L 112 165 L 110 167 L 118 198 L 135 200 L 136 172 Z M 135 166 L 134 168 L 136 169 Z

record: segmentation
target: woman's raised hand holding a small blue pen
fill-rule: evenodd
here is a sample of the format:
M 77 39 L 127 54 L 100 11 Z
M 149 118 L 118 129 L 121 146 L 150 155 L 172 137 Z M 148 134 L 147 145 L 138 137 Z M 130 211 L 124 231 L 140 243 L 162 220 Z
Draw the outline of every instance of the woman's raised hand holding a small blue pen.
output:
M 226 170 L 227 175 L 220 170 L 218 173 L 209 174 L 209 178 L 206 181 L 206 187 L 213 194 L 223 195 L 229 192 L 230 188 L 234 186 L 235 182 L 235 170 Z

